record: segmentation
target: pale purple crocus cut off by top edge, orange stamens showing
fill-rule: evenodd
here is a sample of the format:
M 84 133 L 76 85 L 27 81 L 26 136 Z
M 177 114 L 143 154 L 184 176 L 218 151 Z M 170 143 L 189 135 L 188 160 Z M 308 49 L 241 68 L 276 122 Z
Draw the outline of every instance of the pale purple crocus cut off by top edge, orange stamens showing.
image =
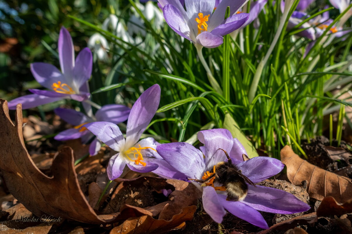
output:
M 215 48 L 223 43 L 223 36 L 240 28 L 249 18 L 247 13 L 237 13 L 248 0 L 222 0 L 215 9 L 215 0 L 185 1 L 186 10 L 179 0 L 159 0 L 165 21 L 180 36 L 196 46 Z M 226 20 L 225 12 L 230 6 Z

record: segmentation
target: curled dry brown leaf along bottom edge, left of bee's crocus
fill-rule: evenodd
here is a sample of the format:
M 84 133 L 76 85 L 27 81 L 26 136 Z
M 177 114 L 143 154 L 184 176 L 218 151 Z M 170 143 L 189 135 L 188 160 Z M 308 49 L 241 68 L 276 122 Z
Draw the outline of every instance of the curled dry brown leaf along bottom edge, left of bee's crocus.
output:
M 110 234 L 162 233 L 175 230 L 176 227 L 183 228 L 184 221 L 193 219 L 196 208 L 196 206 L 184 207 L 181 213 L 174 215 L 172 219 L 168 221 L 164 219 L 154 219 L 150 215 L 129 218 L 121 225 L 114 227 Z

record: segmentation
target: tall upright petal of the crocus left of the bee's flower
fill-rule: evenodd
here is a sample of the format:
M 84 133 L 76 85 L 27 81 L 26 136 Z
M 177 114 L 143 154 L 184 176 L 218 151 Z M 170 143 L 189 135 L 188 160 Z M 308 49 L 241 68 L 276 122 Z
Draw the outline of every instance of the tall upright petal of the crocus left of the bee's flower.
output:
M 134 102 L 127 121 L 126 145 L 128 148 L 137 143 L 155 115 L 160 102 L 160 92 L 160 86 L 153 85 Z

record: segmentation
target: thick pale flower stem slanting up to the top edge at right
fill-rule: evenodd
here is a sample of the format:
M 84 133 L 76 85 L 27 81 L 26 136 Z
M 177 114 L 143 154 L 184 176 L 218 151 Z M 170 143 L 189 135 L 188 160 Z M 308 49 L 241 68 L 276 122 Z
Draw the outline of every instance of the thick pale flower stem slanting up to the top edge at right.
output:
M 248 93 L 248 99 L 249 99 L 250 103 L 253 101 L 254 96 L 256 95 L 260 76 L 262 75 L 262 72 L 263 72 L 263 68 L 264 68 L 266 62 L 268 62 L 268 59 L 276 46 L 277 40 L 279 39 L 279 37 L 281 35 L 282 29 L 284 28 L 284 25 L 286 23 L 286 19 L 287 19 L 289 12 L 290 12 L 290 8 L 291 8 L 292 4 L 293 4 L 293 1 L 285 2 L 285 9 L 284 9 L 284 12 L 281 16 L 280 24 L 277 28 L 276 33 L 275 33 L 274 40 L 272 40 L 271 45 L 268 49 L 268 52 L 266 52 L 265 57 L 260 61 L 259 65 L 257 67 L 256 73 L 254 74 L 253 81 L 252 81 L 252 84 L 251 84 L 251 87 L 250 87 L 249 93 Z

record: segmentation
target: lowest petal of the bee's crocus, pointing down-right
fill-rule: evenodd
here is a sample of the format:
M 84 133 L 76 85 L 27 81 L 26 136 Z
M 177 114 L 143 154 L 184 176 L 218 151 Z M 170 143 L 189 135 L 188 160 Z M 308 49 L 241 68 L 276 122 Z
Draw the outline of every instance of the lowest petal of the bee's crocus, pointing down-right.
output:
M 240 219 L 243 219 L 253 225 L 268 229 L 269 226 L 266 223 L 263 216 L 259 213 L 259 211 L 254 208 L 242 203 L 240 201 L 226 201 L 226 195 L 218 194 L 219 200 L 222 206 L 227 209 L 228 212 L 237 216 Z

